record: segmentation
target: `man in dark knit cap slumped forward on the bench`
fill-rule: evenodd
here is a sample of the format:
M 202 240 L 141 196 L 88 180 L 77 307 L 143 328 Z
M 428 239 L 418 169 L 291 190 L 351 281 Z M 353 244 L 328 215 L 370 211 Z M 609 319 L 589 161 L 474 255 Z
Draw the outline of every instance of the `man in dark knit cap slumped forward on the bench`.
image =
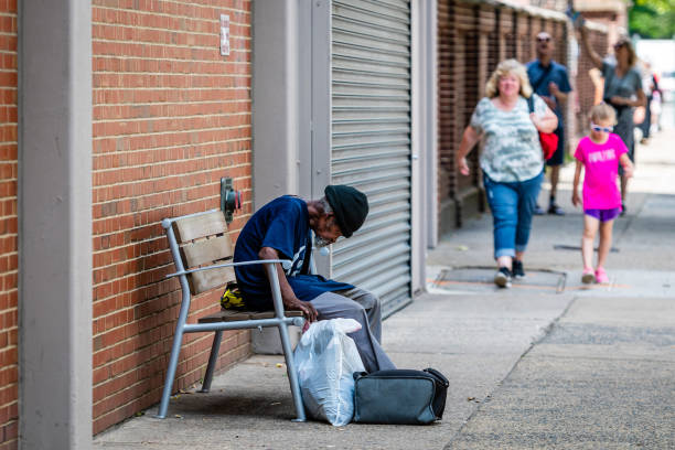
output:
M 310 274 L 311 233 L 323 247 L 340 236 L 350 237 L 368 214 L 366 195 L 352 186 L 329 185 L 321 200 L 304 201 L 292 195 L 272 200 L 257 211 L 237 238 L 234 261 L 289 259 L 288 270 L 277 264 L 283 306 L 300 310 L 313 322 L 335 318 L 354 319 L 362 329 L 351 333 L 367 372 L 395 368 L 379 345 L 379 299 L 352 285 Z M 272 309 L 267 275 L 260 265 L 235 268 L 246 307 Z

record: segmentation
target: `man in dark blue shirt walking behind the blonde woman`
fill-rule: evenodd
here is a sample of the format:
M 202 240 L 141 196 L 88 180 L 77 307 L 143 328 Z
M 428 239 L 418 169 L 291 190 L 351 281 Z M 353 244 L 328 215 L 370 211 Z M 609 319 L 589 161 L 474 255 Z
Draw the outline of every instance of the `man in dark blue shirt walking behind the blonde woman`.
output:
M 565 131 L 562 128 L 562 108 L 561 105 L 567 101 L 568 94 L 571 92 L 569 78 L 567 77 L 567 68 L 553 60 L 555 50 L 550 34 L 543 31 L 536 38 L 537 58 L 527 63 L 527 76 L 533 90 L 546 101 L 548 107 L 558 116 L 558 149 L 554 156 L 546 161 L 546 165 L 550 168 L 550 197 L 548 204 L 548 214 L 564 215 L 565 212 L 556 203 L 556 193 L 558 189 L 558 178 L 560 165 L 565 162 Z M 537 205 L 535 214 L 544 214 L 544 211 Z

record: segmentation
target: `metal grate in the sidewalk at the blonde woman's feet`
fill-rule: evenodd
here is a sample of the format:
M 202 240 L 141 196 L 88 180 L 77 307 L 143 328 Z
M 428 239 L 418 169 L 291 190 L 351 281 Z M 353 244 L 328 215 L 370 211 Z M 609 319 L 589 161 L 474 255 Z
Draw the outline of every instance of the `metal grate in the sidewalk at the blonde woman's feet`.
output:
M 433 288 L 452 291 L 484 292 L 499 289 L 494 285 L 493 267 L 457 267 L 443 269 L 433 281 Z M 561 293 L 567 276 L 553 270 L 527 270 L 525 278 L 513 280 L 512 288 Z

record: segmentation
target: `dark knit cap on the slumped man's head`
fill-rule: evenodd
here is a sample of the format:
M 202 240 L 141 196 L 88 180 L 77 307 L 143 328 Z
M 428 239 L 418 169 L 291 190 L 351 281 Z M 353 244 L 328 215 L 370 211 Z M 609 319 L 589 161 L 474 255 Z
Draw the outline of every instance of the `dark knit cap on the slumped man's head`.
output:
M 328 185 L 323 191 L 344 237 L 351 237 L 368 215 L 368 197 L 352 186 Z

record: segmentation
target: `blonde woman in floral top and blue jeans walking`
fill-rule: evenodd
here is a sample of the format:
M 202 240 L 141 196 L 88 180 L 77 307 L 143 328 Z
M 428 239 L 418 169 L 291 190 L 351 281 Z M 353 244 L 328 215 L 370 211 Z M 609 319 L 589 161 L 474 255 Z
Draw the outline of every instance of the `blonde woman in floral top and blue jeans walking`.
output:
M 544 171 L 538 131 L 551 132 L 557 126 L 556 115 L 533 94 L 525 67 L 506 60 L 488 81 L 485 97 L 462 136 L 457 164 L 463 175 L 469 174 L 467 154 L 484 138 L 480 165 L 494 224 L 494 282 L 502 288 L 511 286 L 512 277 L 525 276 L 523 256 Z

